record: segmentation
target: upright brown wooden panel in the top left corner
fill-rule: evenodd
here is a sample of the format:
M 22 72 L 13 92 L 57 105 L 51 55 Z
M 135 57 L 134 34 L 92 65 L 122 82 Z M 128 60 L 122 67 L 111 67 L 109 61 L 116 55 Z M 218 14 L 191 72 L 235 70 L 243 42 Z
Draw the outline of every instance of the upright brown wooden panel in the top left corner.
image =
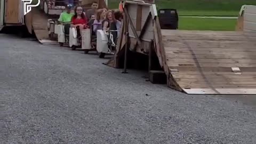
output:
M 19 0 L 5 0 L 5 23 L 19 22 Z

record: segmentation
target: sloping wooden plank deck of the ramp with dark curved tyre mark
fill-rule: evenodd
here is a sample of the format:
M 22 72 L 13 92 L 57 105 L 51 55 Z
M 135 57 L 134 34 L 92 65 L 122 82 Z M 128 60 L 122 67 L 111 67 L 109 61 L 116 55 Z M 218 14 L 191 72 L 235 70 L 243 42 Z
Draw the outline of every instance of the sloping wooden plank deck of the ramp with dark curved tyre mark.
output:
M 170 87 L 189 94 L 256 94 L 256 33 L 161 33 Z

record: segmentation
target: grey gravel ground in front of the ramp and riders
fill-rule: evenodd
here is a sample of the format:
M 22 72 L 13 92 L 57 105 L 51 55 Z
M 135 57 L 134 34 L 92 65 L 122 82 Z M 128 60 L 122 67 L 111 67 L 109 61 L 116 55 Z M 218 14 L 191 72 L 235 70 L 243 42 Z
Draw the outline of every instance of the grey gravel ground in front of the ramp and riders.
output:
M 187 95 L 94 54 L 0 43 L 0 143 L 256 143 L 255 95 Z

